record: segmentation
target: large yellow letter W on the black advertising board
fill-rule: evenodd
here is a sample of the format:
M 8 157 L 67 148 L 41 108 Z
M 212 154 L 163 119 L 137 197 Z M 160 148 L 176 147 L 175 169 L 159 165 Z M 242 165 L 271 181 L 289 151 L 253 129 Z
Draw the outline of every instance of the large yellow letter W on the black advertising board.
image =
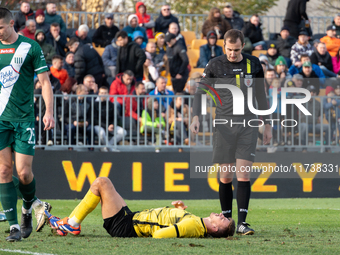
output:
M 88 178 L 90 185 L 97 178 L 96 172 L 94 171 L 92 163 L 90 162 L 84 162 L 81 165 L 78 178 L 76 177 L 71 161 L 62 161 L 62 165 L 71 190 L 81 192 L 86 177 Z M 98 177 L 108 177 L 110 174 L 111 166 L 111 162 L 104 162 L 102 168 L 100 169 Z

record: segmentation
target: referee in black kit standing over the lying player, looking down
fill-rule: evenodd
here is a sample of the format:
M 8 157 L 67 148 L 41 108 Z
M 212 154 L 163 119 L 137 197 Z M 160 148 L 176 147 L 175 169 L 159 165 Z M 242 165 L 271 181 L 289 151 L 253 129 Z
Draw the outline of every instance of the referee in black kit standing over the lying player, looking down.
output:
M 237 86 L 244 95 L 244 115 L 233 115 L 233 98 L 229 89 L 216 88 L 215 90 L 221 98 L 222 105 L 216 100 L 216 118 L 226 119 L 227 124 L 215 125 L 213 138 L 213 163 L 220 164 L 221 169 L 231 169 L 236 163 L 237 177 L 237 207 L 238 225 L 237 234 L 252 235 L 254 230 L 246 223 L 248 205 L 250 199 L 250 172 L 241 172 L 244 167 L 251 168 L 255 160 L 255 150 L 257 143 L 258 127 L 248 126 L 250 119 L 257 119 L 257 116 L 250 112 L 247 104 L 247 89 L 253 88 L 253 105 L 255 99 L 259 110 L 267 110 L 268 104 L 264 91 L 264 74 L 261 63 L 257 57 L 243 54 L 244 47 L 243 33 L 236 29 L 231 29 L 224 35 L 225 55 L 213 58 L 205 67 L 203 78 L 199 87 L 207 89 L 207 84 L 215 87 L 216 84 L 228 84 Z M 201 114 L 201 95 L 205 93 L 198 89 L 193 104 L 193 120 L 190 130 L 197 134 L 199 130 L 199 115 Z M 234 99 L 236 100 L 236 99 Z M 239 100 L 239 99 L 237 99 Z M 269 144 L 272 133 L 269 116 L 263 116 L 265 131 L 263 143 Z M 230 123 L 238 123 L 230 125 Z M 244 123 L 244 124 L 243 124 Z M 254 124 L 254 122 L 251 123 Z M 242 168 L 241 168 L 242 167 Z M 219 197 L 222 213 L 225 217 L 232 215 L 232 180 L 233 171 L 221 171 Z

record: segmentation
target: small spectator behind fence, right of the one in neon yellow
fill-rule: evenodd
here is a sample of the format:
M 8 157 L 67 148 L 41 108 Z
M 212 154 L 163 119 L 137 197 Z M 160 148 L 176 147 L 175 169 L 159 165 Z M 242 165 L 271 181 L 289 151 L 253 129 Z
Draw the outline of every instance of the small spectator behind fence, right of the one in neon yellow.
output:
M 176 93 L 176 99 L 171 102 L 169 107 L 170 133 L 174 135 L 174 144 L 189 144 L 189 106 L 185 104 L 182 96 L 184 93 Z

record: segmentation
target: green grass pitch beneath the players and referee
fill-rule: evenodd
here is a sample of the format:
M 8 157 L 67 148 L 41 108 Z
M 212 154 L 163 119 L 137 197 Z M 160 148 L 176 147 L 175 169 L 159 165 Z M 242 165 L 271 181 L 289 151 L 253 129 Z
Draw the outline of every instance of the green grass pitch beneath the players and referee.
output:
M 49 200 L 52 214 L 68 216 L 79 201 Z M 170 200 L 129 200 L 132 211 L 170 205 Z M 218 200 L 187 200 L 200 217 L 219 212 Z M 19 207 L 18 207 L 19 208 Z M 234 204 L 234 216 L 236 213 Z M 205 239 L 112 238 L 102 228 L 100 206 L 82 223 L 79 236 L 55 236 L 48 226 L 28 239 L 8 243 L 0 223 L 0 249 L 53 254 L 338 254 L 340 199 L 252 199 L 247 221 L 253 236 Z M 18 215 L 18 217 L 20 217 Z M 237 218 L 237 217 L 236 217 Z M 20 218 L 19 218 L 20 219 Z M 35 226 L 35 222 L 34 222 Z M 0 250 L 0 254 L 4 251 Z M 8 253 L 14 254 L 14 253 Z

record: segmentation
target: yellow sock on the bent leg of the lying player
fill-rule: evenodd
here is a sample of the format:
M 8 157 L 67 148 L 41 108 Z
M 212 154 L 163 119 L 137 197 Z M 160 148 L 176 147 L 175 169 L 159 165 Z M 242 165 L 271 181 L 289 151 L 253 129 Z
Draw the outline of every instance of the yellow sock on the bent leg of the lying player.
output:
M 97 207 L 99 202 L 100 197 L 93 194 L 91 189 L 89 189 L 83 200 L 74 208 L 69 218 L 80 224 Z

